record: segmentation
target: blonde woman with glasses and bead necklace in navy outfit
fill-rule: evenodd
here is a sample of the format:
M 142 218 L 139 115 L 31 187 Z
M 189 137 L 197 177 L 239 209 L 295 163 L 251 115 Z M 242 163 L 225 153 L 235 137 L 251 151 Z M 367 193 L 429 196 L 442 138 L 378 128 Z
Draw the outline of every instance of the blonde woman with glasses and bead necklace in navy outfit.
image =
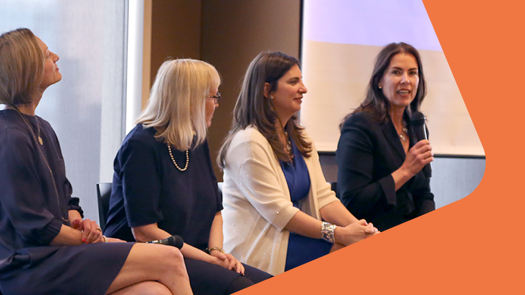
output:
M 206 141 L 219 84 L 217 70 L 203 61 L 161 65 L 115 158 L 104 228 L 127 241 L 181 236 L 195 294 L 230 294 L 271 277 L 223 250 L 222 197 Z

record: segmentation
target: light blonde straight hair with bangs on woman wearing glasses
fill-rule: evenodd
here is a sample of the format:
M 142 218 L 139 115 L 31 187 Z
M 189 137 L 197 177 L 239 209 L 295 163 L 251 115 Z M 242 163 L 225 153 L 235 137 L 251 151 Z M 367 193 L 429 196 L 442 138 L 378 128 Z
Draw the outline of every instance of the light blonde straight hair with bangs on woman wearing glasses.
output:
M 136 123 L 154 127 L 155 137 L 178 150 L 192 149 L 206 140 L 206 96 L 220 85 L 213 65 L 194 59 L 162 63 L 148 104 Z

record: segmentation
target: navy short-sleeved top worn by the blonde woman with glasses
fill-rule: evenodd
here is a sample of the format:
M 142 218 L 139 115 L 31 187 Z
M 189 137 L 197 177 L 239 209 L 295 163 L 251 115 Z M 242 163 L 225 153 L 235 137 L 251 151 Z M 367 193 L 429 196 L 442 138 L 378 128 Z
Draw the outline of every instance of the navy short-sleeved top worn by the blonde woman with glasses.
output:
M 104 234 L 134 241 L 130 227 L 157 223 L 185 243 L 205 249 L 213 218 L 223 209 L 208 144 L 190 150 L 188 168 L 180 171 L 155 132 L 139 124 L 124 139 L 114 161 Z M 186 152 L 171 150 L 178 167 L 184 168 Z

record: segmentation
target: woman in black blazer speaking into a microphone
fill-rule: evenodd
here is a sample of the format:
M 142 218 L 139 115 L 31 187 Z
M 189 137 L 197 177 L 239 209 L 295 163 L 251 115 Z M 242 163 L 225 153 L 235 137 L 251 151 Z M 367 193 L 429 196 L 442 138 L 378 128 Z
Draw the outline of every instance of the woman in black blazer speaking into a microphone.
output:
M 422 171 L 434 154 L 428 140 L 417 141 L 411 121 L 425 94 L 417 50 L 391 43 L 377 56 L 365 100 L 341 124 L 339 198 L 380 231 L 435 209 Z

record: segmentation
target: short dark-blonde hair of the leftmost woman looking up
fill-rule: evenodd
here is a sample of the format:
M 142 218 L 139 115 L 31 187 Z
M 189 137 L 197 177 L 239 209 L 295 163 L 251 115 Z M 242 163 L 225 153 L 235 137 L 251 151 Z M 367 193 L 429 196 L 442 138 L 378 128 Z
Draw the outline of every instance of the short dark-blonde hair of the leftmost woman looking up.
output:
M 0 103 L 33 102 L 44 80 L 44 53 L 29 29 L 20 28 L 0 36 Z

